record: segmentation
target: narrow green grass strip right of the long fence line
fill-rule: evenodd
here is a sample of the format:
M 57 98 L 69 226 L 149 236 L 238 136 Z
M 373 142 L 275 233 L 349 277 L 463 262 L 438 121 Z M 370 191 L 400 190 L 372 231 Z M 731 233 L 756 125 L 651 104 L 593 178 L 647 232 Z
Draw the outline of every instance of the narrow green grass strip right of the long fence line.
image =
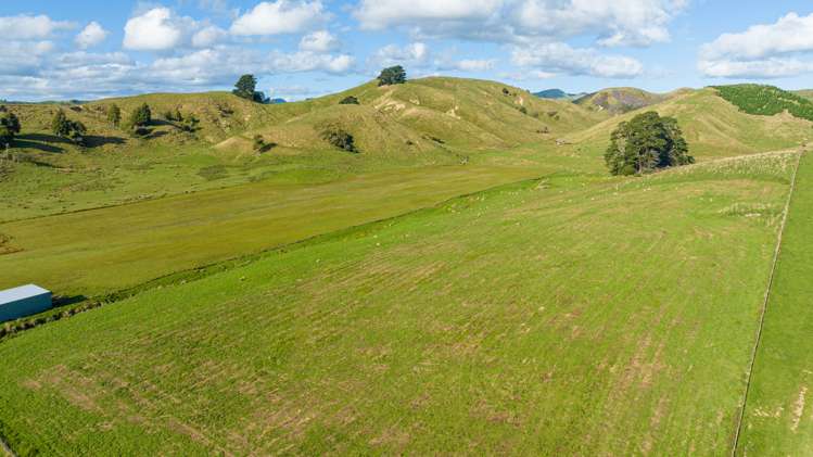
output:
M 790 202 L 738 455 L 806 455 L 813 447 L 813 156 Z

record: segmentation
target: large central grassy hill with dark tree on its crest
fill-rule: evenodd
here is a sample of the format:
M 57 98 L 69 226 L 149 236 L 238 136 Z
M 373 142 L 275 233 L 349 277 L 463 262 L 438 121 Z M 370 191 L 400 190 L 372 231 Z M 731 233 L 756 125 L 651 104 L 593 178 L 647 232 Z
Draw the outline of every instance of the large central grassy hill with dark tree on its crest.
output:
M 350 96 L 359 104 L 339 103 Z M 341 93 L 271 106 L 269 113 L 274 120 L 217 148 L 247 151 L 261 135 L 285 150 L 323 149 L 322 130 L 335 126 L 350 132 L 367 154 L 448 157 L 453 152 L 468 155 L 550 139 L 604 118 L 499 82 L 445 77 L 385 87 L 371 81 Z

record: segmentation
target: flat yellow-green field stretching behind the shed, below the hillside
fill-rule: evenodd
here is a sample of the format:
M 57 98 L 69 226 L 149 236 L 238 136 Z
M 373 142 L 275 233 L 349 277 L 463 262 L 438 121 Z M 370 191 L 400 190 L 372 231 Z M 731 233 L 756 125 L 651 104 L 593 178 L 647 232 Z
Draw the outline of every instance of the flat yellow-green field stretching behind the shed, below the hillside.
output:
M 36 282 L 93 296 L 172 272 L 567 170 L 550 164 L 410 167 L 321 185 L 257 182 L 0 224 L 0 289 Z M 554 165 L 556 164 L 556 165 Z

